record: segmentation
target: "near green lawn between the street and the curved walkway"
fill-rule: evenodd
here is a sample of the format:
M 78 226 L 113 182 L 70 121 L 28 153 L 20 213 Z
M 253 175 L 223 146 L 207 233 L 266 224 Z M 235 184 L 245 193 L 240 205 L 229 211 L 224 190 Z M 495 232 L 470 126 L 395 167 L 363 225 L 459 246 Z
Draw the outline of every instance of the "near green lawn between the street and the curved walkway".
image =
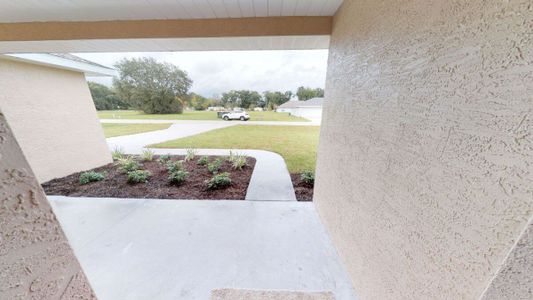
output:
M 318 126 L 237 125 L 152 145 L 155 148 L 261 149 L 279 153 L 289 172 L 314 170 Z

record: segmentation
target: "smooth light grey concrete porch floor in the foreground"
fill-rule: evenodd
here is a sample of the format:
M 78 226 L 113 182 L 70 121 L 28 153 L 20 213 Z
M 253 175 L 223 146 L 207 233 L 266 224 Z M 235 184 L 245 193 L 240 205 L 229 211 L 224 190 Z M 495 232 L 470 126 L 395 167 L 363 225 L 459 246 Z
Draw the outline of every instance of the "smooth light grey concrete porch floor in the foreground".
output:
M 100 300 L 220 288 L 356 299 L 312 203 L 48 198 Z

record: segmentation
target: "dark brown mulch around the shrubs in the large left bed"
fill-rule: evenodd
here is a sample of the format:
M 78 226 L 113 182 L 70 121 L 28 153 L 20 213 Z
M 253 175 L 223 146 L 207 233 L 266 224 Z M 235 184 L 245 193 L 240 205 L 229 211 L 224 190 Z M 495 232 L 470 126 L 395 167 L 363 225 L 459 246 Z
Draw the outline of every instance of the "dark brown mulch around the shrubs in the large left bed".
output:
M 170 184 L 166 166 L 160 165 L 156 160 L 141 162 L 142 169 L 152 173 L 146 183 L 129 184 L 126 174 L 118 170 L 114 163 L 95 168 L 93 171 L 107 172 L 103 181 L 91 182 L 86 185 L 79 183 L 80 173 L 71 174 L 63 178 L 57 178 L 42 184 L 48 195 L 63 195 L 72 197 L 116 197 L 116 198 L 156 198 L 156 199 L 231 199 L 244 200 L 246 190 L 250 183 L 252 171 L 255 166 L 255 158 L 247 157 L 247 166 L 242 170 L 234 170 L 231 164 L 224 159 L 220 173 L 229 172 L 231 185 L 220 190 L 207 190 L 205 180 L 213 175 L 207 170 L 207 166 L 197 164 L 200 156 L 184 163 L 184 168 L 189 172 L 187 181 L 181 185 Z M 182 160 L 183 156 L 172 156 L 172 160 Z M 210 156 L 209 161 L 214 161 L 217 156 Z

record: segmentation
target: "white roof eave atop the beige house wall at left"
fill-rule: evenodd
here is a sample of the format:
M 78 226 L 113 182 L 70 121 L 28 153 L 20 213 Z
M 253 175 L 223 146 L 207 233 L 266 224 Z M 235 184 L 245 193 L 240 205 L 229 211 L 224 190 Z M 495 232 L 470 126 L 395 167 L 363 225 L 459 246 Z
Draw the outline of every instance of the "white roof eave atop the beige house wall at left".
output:
M 22 61 L 58 69 L 84 73 L 86 76 L 115 76 L 116 70 L 69 53 L 3 54 L 0 58 Z

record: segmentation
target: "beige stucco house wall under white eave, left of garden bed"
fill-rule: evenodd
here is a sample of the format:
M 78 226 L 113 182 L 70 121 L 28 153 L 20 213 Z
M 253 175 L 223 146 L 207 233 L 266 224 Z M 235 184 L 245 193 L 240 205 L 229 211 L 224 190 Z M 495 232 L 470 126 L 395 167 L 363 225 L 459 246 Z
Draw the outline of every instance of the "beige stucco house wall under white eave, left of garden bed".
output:
M 0 59 L 0 109 L 39 182 L 111 162 L 82 73 Z

